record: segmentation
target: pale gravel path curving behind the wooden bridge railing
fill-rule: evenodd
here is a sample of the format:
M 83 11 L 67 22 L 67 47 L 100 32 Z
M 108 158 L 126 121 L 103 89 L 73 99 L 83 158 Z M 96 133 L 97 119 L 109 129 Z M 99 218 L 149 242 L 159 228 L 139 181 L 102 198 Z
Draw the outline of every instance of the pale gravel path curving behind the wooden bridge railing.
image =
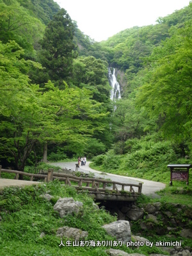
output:
M 61 163 L 51 163 L 51 165 L 59 166 L 60 168 L 68 168 L 72 172 L 76 170 L 76 163 L 77 162 L 67 162 L 67 163 L 61 162 Z M 94 173 L 95 177 L 98 177 L 98 178 L 102 177 L 102 179 L 110 179 L 116 182 L 131 183 L 131 184 L 139 184 L 141 182 L 143 183 L 142 193 L 144 195 L 149 195 L 152 197 L 158 197 L 158 195 L 156 194 L 156 191 L 159 191 L 165 188 L 165 184 L 161 182 L 126 177 L 126 176 L 116 175 L 112 173 L 99 172 L 90 168 L 89 164 L 90 162 L 87 162 L 85 166 L 80 166 L 78 168 L 78 171 L 84 172 L 84 173 Z

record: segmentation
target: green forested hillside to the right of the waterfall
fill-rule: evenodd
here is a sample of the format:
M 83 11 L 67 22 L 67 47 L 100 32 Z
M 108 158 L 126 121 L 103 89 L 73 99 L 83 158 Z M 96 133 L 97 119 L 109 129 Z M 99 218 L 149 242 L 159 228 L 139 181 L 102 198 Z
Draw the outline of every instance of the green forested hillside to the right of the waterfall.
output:
M 113 51 L 109 65 L 124 72 L 113 147 L 95 158 L 103 170 L 168 180 L 168 163 L 191 163 L 191 8 L 101 43 Z

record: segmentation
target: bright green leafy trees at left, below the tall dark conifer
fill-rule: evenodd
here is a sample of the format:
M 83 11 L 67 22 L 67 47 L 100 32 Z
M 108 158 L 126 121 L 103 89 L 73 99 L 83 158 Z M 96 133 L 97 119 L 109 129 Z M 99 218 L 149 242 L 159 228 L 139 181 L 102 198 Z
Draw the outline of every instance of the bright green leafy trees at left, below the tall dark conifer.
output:
M 88 134 L 104 129 L 93 122 L 105 114 L 86 89 L 68 88 L 65 83 L 65 90 L 59 90 L 49 81 L 42 93 L 38 85 L 29 84 L 28 76 L 20 70 L 37 64 L 20 59 L 20 54 L 22 49 L 15 42 L 1 44 L 0 148 L 1 157 L 13 158 L 17 170 L 24 170 L 36 144 L 67 140 L 81 150 L 81 141 L 86 141 Z

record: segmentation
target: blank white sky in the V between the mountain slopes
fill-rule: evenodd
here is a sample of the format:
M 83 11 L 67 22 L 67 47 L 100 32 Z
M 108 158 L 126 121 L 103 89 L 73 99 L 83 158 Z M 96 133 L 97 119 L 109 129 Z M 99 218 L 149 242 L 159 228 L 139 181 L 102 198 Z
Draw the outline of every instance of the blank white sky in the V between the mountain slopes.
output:
M 156 24 L 188 6 L 189 0 L 54 0 L 76 20 L 78 28 L 97 42 L 134 26 Z

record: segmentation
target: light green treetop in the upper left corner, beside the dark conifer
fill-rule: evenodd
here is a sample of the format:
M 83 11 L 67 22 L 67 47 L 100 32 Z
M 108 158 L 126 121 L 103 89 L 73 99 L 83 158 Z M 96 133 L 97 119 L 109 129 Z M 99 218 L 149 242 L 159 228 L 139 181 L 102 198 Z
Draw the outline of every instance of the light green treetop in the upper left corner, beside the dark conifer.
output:
M 17 1 L 5 4 L 0 1 L 0 40 L 3 44 L 15 40 L 25 51 L 25 58 L 35 58 L 35 49 L 39 48 L 45 26 L 39 19 L 33 17 L 28 10 L 20 6 Z

